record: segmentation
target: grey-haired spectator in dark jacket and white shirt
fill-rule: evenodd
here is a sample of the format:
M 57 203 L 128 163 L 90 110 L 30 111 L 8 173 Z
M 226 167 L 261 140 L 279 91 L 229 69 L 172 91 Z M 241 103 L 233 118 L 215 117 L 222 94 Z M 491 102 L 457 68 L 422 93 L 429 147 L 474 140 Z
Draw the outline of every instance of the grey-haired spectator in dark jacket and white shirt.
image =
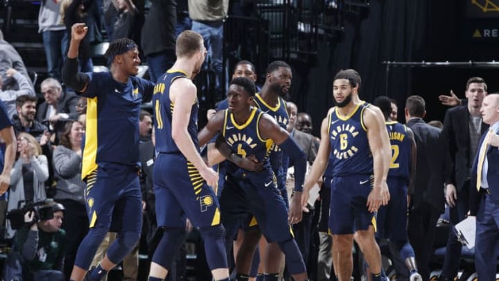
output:
M 51 124 L 55 124 L 64 119 L 78 119 L 78 112 L 76 112 L 78 96 L 76 94 L 63 91 L 59 81 L 54 78 L 43 80 L 40 88 L 45 101 L 38 107 L 38 121 L 49 120 Z

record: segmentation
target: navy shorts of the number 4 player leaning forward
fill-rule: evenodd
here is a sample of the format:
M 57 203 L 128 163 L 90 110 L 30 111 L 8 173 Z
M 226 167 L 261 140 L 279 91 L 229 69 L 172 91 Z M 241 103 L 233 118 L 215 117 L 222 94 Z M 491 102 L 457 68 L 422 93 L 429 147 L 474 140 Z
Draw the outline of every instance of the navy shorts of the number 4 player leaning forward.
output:
M 224 198 L 228 192 L 222 193 L 221 200 L 227 202 L 222 205 L 224 221 L 241 222 L 243 229 L 258 227 L 268 242 L 292 237 L 288 208 L 270 168 L 257 173 L 240 170 L 227 174 L 226 179 L 224 192 L 231 191 L 232 197 Z

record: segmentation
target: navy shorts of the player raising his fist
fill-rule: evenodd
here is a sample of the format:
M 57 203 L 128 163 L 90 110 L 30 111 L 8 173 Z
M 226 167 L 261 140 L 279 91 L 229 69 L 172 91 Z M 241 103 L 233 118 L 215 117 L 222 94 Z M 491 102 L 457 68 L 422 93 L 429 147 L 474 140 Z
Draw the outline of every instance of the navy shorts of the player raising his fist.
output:
M 85 202 L 90 228 L 141 232 L 142 195 L 137 167 L 99 166 L 87 176 Z

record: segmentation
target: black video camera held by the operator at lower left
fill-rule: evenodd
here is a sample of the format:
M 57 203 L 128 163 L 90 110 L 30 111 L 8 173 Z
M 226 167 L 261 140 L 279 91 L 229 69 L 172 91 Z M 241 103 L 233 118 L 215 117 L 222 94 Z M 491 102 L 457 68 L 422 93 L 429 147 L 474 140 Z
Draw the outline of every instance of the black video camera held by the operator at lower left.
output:
M 17 230 L 25 225 L 24 214 L 27 212 L 35 212 L 33 223 L 37 223 L 38 221 L 53 219 L 53 213 L 60 210 L 64 210 L 64 207 L 60 203 L 55 203 L 52 200 L 27 203 L 22 200 L 17 203 L 17 209 L 7 213 L 7 219 L 10 221 L 10 227 L 13 230 Z

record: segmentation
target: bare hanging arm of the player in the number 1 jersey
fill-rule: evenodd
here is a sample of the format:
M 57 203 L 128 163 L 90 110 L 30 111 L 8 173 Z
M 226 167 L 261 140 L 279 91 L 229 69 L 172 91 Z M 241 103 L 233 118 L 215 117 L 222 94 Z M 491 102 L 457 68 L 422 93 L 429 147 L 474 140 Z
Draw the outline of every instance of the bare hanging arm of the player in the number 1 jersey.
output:
M 189 79 L 180 78 L 170 86 L 170 100 L 175 108 L 172 114 L 172 138 L 180 152 L 191 162 L 207 184 L 215 187 L 218 173 L 204 163 L 196 149 L 187 126 L 191 119 L 191 108 L 196 100 L 196 87 Z

